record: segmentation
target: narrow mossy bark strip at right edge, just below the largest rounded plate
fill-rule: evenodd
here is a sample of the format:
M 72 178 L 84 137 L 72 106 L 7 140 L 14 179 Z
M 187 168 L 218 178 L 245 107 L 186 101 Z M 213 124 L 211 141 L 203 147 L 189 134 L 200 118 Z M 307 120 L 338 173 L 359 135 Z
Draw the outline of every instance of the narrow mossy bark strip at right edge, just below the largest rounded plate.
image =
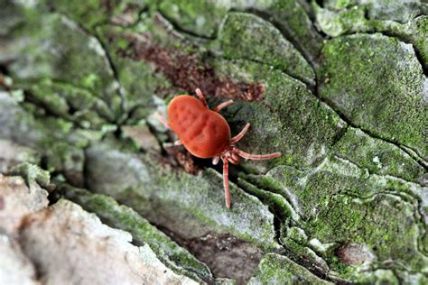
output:
M 379 175 L 413 182 L 423 181 L 425 175 L 423 167 L 393 143 L 373 138 L 352 127 L 336 142 L 331 153 Z

